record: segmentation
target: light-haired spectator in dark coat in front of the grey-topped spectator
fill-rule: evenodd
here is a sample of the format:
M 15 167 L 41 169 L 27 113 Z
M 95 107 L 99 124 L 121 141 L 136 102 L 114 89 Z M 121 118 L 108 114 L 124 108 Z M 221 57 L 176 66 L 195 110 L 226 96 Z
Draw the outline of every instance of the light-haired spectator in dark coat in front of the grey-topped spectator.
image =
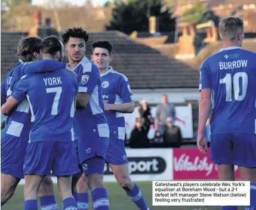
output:
M 167 128 L 164 131 L 164 143 L 173 143 L 178 147 L 181 146 L 182 136 L 180 128 L 176 125 L 173 125 L 173 120 L 171 118 L 166 119 Z

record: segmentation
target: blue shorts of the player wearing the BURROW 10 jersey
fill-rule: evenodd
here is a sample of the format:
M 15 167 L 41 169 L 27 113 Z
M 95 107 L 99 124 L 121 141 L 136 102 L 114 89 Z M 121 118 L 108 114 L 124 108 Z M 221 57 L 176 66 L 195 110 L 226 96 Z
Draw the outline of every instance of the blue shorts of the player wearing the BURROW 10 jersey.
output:
M 256 134 L 211 134 L 215 164 L 256 167 Z

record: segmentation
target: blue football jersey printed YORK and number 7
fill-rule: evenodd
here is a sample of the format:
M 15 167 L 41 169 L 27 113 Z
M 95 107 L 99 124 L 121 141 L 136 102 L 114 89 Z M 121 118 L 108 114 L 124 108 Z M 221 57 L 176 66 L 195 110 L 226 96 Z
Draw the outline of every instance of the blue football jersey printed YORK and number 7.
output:
M 30 142 L 72 141 L 74 98 L 77 78 L 67 70 L 25 75 L 13 97 L 29 101 L 31 117 Z

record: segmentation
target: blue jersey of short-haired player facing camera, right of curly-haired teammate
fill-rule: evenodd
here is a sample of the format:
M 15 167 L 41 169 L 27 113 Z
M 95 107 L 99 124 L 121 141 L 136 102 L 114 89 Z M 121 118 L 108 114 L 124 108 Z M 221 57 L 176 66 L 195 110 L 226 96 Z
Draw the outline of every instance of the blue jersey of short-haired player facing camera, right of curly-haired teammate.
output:
M 109 104 L 122 104 L 133 101 L 129 81 L 125 75 L 112 67 L 101 75 L 102 97 Z M 110 138 L 125 139 L 125 118 L 123 113 L 109 111 L 105 113 L 109 123 Z

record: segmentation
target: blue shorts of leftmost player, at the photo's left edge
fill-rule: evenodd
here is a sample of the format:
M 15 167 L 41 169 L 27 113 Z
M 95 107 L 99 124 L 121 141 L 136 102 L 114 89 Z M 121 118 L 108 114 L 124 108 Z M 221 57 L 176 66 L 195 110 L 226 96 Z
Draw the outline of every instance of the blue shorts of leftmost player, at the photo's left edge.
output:
M 1 133 L 1 173 L 24 178 L 23 166 L 29 139 Z

